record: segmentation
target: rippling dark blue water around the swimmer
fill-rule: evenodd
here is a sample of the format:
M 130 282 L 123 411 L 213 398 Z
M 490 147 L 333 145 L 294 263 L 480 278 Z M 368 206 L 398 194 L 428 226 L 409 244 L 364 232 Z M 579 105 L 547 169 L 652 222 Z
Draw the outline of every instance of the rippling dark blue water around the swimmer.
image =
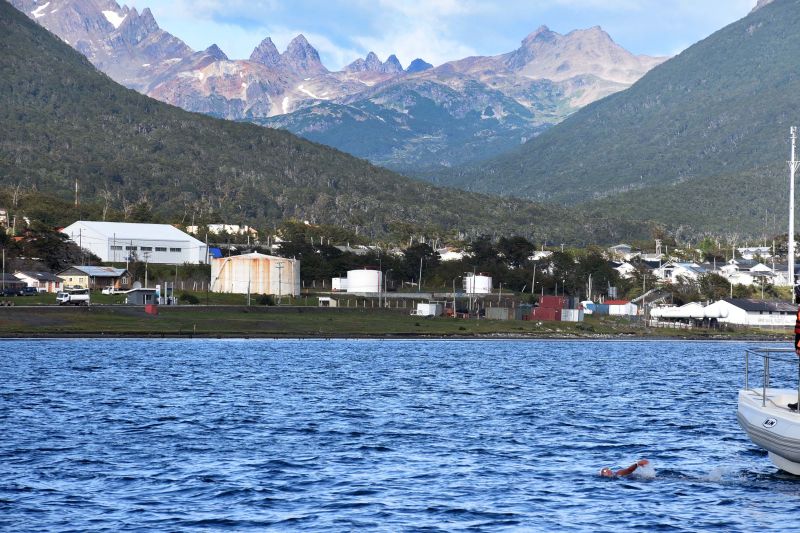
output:
M 742 344 L 0 349 L 5 531 L 774 531 L 800 519 L 800 480 L 735 420 Z M 597 475 L 641 457 L 644 477 Z

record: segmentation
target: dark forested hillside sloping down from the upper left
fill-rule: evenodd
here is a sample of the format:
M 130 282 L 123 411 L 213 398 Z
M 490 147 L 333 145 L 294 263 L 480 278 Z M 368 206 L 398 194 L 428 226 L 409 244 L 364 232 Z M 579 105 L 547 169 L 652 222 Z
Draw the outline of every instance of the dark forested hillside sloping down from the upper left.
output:
M 188 113 L 127 90 L 0 3 L 0 185 L 126 216 L 272 225 L 286 218 L 380 234 L 395 224 L 608 242 L 647 228 L 440 189 L 289 133 Z

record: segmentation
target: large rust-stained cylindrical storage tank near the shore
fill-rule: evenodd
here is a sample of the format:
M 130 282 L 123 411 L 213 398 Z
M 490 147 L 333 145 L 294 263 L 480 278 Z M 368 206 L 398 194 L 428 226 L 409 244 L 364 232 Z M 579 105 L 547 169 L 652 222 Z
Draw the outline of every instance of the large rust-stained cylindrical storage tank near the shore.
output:
M 212 292 L 300 295 L 300 261 L 259 253 L 211 260 Z

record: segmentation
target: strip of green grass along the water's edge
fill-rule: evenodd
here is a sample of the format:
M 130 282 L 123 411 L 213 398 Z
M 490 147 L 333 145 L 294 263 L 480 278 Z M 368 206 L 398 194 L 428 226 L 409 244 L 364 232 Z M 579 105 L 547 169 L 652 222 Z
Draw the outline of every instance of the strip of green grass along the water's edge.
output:
M 158 316 L 141 307 L 0 308 L 0 336 L 25 335 L 201 335 L 266 337 L 523 336 L 542 338 L 675 337 L 788 338 L 754 331 L 645 330 L 609 317 L 583 323 L 422 318 L 372 309 L 161 306 Z

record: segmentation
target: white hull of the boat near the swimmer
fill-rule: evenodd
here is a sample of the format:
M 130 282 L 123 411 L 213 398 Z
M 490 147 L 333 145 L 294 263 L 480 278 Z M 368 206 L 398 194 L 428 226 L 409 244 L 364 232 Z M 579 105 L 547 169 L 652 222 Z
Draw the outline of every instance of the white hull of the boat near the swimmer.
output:
M 800 413 L 787 407 L 797 401 L 797 390 L 767 389 L 766 402 L 761 392 L 739 391 L 739 425 L 750 440 L 769 452 L 775 466 L 800 475 Z

